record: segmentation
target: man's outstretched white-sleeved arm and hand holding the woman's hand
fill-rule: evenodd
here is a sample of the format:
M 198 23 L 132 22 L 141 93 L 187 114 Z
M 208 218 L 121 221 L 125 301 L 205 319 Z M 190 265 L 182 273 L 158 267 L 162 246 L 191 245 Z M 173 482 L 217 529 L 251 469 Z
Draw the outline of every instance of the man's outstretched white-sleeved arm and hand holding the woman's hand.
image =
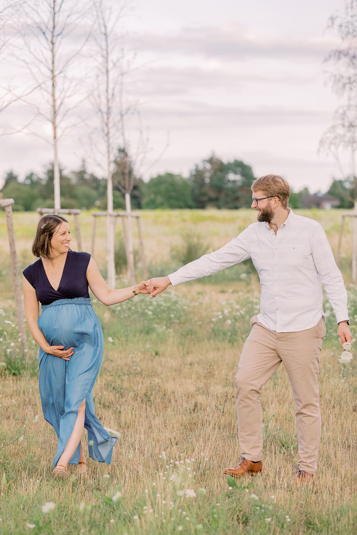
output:
M 246 228 L 237 238 L 233 238 L 221 249 L 209 255 L 201 256 L 201 258 L 186 264 L 167 277 L 155 277 L 148 280 L 147 287 L 150 291 L 150 298 L 163 292 L 169 284 L 176 286 L 181 282 L 207 277 L 212 273 L 217 273 L 217 271 L 246 260 L 249 258 L 248 233 L 249 230 Z

